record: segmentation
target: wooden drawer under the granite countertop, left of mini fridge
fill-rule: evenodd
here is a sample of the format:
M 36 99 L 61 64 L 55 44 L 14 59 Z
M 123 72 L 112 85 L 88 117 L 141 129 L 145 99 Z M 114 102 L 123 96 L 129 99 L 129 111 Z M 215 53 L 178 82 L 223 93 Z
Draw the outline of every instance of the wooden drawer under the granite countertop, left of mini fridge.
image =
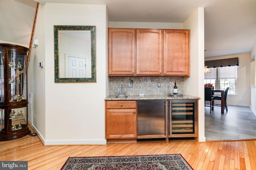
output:
M 107 109 L 135 109 L 136 101 L 107 101 Z

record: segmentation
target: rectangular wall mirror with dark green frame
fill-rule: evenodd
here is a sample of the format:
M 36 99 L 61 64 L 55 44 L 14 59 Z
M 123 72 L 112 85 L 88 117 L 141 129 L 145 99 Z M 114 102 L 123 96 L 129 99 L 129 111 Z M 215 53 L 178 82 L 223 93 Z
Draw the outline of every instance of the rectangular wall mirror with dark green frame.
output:
M 54 25 L 56 83 L 96 82 L 95 26 Z

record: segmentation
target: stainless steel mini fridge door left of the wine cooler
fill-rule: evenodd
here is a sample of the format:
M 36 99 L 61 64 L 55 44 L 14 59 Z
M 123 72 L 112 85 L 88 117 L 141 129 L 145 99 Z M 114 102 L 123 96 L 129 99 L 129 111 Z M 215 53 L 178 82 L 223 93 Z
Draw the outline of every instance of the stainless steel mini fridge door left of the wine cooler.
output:
M 138 100 L 138 139 L 167 137 L 167 100 Z

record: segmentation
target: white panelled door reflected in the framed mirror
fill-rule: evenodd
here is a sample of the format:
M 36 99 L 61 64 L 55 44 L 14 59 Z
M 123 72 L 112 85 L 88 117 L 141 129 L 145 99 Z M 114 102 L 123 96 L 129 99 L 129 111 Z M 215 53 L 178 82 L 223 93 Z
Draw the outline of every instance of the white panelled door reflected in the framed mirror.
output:
M 86 58 L 66 54 L 66 77 L 82 78 L 86 76 Z

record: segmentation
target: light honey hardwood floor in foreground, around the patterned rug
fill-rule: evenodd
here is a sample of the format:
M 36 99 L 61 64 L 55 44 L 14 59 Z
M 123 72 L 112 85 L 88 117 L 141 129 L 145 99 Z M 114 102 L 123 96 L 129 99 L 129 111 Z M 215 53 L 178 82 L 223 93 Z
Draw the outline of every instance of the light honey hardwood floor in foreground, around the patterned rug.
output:
M 28 161 L 29 170 L 60 170 L 69 156 L 181 154 L 195 170 L 255 170 L 256 140 L 196 142 L 170 140 L 108 145 L 44 146 L 25 136 L 0 142 L 0 160 Z

